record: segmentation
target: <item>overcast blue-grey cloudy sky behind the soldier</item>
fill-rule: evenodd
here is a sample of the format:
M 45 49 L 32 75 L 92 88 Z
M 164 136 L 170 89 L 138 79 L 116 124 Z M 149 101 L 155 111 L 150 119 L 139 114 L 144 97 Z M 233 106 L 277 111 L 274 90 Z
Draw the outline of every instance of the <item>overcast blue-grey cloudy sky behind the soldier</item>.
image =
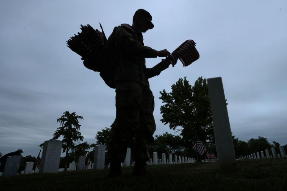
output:
M 84 141 L 115 119 L 115 90 L 99 73 L 83 66 L 66 41 L 80 24 L 107 36 L 132 24 L 136 10 L 152 15 L 155 27 L 143 34 L 146 46 L 175 50 L 193 39 L 200 53 L 188 67 L 181 62 L 150 79 L 155 96 L 154 135 L 161 123 L 159 91 L 187 76 L 194 84 L 222 77 L 231 131 L 239 140 L 263 136 L 287 144 L 287 1 L 20 1 L 0 3 L 0 152 L 22 148 L 36 156 L 52 138 L 63 112 L 76 112 Z M 146 59 L 152 67 L 161 58 Z

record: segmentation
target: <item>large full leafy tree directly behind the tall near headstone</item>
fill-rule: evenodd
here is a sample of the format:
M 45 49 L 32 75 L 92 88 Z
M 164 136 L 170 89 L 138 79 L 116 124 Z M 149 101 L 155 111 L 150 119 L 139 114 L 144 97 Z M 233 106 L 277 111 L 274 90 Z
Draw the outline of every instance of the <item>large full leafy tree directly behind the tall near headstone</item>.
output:
M 160 92 L 160 99 L 165 103 L 161 106 L 161 121 L 169 124 L 170 129 L 181 131 L 184 142 L 188 144 L 188 153 L 194 152 L 191 146 L 195 142 L 195 133 L 202 142 L 209 140 L 214 143 L 207 80 L 199 77 L 191 86 L 186 77 L 179 78 L 171 89 L 170 93 Z

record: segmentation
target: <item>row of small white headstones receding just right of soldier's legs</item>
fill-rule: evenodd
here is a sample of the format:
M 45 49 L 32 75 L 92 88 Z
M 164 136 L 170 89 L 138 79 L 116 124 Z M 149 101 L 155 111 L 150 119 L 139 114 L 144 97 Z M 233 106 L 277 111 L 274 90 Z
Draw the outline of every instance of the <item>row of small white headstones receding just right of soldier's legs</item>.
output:
M 149 164 L 182 164 L 182 163 L 193 163 L 196 162 L 194 158 L 187 157 L 177 157 L 174 156 L 174 160 L 172 160 L 172 155 L 169 155 L 169 159 L 166 159 L 165 153 L 162 153 L 162 159 L 158 159 L 158 153 L 153 152 L 153 160 L 150 159 Z

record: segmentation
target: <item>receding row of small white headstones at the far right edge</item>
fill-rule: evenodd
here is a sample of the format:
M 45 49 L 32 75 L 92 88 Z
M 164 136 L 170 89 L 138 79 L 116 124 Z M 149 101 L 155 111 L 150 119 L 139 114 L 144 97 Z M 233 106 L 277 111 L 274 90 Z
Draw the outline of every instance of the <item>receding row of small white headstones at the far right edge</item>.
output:
M 261 157 L 260 157 L 259 153 L 257 152 L 256 154 L 253 153 L 253 154 L 250 154 L 250 155 L 246 155 L 244 157 L 238 158 L 237 160 L 287 157 L 283 146 L 279 145 L 279 150 L 280 150 L 281 156 L 280 156 L 280 154 L 276 154 L 275 148 L 272 147 L 271 148 L 272 155 L 270 155 L 268 149 L 266 149 L 265 150 L 265 155 L 266 156 L 264 156 L 264 152 L 263 151 L 260 151 Z

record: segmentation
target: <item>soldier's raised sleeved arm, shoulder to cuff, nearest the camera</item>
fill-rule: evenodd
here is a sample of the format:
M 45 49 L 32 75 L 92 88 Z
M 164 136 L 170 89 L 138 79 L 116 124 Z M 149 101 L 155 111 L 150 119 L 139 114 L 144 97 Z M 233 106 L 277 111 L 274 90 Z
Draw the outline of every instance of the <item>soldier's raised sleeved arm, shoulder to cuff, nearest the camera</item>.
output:
M 143 58 L 156 58 L 159 54 L 157 50 L 136 42 L 135 37 L 126 27 L 119 27 L 117 30 L 117 41 L 122 50 L 128 55 Z

